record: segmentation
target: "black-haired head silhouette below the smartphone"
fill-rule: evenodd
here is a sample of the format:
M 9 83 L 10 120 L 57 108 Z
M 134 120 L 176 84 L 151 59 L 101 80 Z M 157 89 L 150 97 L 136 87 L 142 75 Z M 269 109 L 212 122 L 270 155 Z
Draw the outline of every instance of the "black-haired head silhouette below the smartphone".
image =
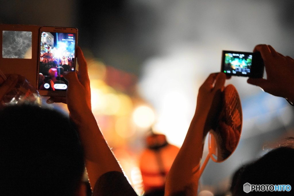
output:
M 1 195 L 74 195 L 83 149 L 69 118 L 34 105 L 0 111 Z

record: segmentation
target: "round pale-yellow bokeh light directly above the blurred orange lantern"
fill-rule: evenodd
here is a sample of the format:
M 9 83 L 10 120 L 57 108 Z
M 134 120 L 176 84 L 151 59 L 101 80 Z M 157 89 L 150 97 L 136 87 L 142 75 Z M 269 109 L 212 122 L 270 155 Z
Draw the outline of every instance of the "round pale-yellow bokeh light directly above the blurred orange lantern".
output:
M 147 128 L 154 123 L 155 115 L 150 107 L 140 106 L 135 109 L 133 120 L 137 126 Z

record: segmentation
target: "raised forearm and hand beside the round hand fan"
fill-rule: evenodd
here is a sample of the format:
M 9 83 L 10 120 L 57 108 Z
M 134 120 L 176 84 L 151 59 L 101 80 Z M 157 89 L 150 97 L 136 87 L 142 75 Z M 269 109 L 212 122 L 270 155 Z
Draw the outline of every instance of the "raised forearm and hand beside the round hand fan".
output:
M 210 74 L 199 88 L 197 106 L 183 145 L 166 180 L 165 195 L 197 195 L 200 162 L 206 134 L 216 115 L 215 106 L 225 84 L 225 74 Z

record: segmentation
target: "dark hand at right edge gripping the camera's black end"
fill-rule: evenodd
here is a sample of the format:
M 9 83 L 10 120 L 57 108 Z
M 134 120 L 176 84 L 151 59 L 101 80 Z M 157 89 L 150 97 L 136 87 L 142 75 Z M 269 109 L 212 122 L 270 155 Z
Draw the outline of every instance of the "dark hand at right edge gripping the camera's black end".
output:
M 260 52 L 264 61 L 267 79 L 249 78 L 247 82 L 262 88 L 265 92 L 294 102 L 294 59 L 283 56 L 270 45 L 257 45 L 253 52 Z

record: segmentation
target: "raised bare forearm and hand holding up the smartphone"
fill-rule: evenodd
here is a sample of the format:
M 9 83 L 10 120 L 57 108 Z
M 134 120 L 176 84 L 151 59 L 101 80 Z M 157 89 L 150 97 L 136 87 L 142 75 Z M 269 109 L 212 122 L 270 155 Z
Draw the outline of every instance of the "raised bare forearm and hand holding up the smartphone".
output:
M 79 64 L 78 75 L 76 72 L 69 72 L 64 75 L 69 82 L 66 103 L 70 118 L 78 128 L 78 134 L 85 152 L 88 177 L 93 188 L 99 177 L 106 172 L 117 171 L 123 173 L 123 171 L 108 147 L 92 114 L 90 80 L 87 64 L 80 48 L 77 50 L 77 58 Z M 51 97 L 47 100 L 47 103 L 52 102 L 64 102 L 64 100 L 60 97 Z

